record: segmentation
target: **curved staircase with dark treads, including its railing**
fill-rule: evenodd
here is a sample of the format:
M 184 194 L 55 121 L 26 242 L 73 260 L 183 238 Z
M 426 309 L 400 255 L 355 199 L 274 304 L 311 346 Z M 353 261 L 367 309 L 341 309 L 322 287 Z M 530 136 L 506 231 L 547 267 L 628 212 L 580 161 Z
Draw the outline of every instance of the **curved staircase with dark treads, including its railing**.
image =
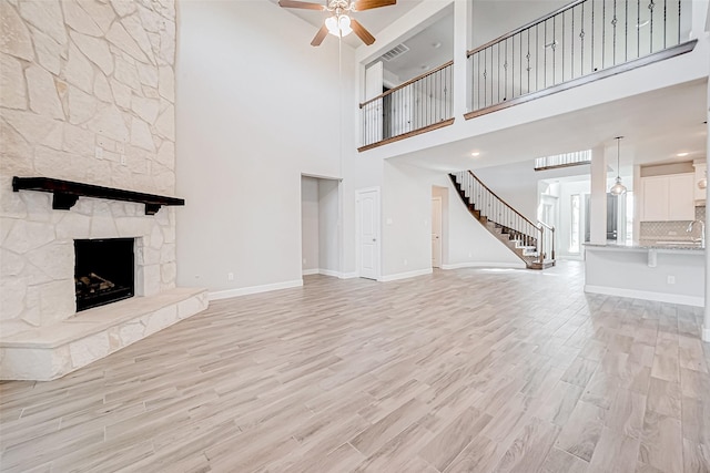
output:
M 555 266 L 555 227 L 528 220 L 470 171 L 449 174 L 449 177 L 474 218 L 510 248 L 528 269 Z

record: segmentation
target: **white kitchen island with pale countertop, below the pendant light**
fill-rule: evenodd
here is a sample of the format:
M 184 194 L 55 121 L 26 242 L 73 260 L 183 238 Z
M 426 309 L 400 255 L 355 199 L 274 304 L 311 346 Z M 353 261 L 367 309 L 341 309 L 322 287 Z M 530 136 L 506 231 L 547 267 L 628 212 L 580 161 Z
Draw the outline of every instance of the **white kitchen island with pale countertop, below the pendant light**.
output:
M 698 245 L 585 245 L 585 292 L 704 306 L 706 250 Z

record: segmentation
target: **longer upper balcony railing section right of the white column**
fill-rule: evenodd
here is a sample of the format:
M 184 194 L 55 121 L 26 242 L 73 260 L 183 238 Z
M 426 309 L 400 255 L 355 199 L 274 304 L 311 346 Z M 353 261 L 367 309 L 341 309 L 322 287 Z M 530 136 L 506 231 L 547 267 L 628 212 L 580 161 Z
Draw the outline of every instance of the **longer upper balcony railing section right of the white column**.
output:
M 467 119 L 681 54 L 682 0 L 577 0 L 468 52 Z M 689 48 L 682 44 L 690 45 Z M 646 60 L 643 60 L 646 59 Z M 636 63 L 636 64 L 633 64 Z M 605 74 L 606 72 L 606 74 Z M 589 78 L 591 79 L 591 78 Z

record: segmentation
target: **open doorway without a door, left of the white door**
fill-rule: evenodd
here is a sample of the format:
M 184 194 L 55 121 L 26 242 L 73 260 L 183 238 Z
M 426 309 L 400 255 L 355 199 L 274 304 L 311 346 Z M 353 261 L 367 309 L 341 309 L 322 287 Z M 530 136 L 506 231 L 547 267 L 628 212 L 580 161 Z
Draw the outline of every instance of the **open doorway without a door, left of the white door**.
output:
M 301 176 L 301 273 L 341 276 L 339 179 Z

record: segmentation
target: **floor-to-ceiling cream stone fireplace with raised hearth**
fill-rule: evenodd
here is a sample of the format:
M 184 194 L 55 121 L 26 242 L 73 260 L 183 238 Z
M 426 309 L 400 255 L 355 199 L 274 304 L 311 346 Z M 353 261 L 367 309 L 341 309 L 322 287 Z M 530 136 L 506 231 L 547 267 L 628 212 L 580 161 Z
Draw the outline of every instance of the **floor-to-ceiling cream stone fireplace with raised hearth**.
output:
M 49 380 L 206 307 L 204 290 L 175 287 L 174 207 L 59 209 L 12 189 L 20 176 L 174 195 L 175 8 L 28 0 L 0 13 L 0 378 Z M 113 238 L 134 241 L 134 297 L 78 311 L 75 241 Z

